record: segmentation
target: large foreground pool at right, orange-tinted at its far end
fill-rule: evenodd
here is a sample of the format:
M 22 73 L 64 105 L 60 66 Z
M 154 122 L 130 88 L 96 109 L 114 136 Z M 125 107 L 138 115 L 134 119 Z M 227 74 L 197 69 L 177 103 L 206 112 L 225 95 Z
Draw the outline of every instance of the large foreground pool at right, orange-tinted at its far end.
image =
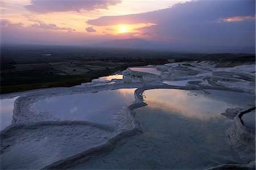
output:
M 209 94 L 209 92 L 211 94 Z M 205 169 L 225 163 L 246 163 L 228 144 L 225 132 L 232 120 L 220 113 L 233 103 L 226 96 L 245 94 L 225 91 L 155 89 L 144 92 L 146 107 L 135 109 L 143 133 L 75 169 Z M 233 94 L 234 93 L 234 94 Z M 252 97 L 253 98 L 253 97 Z M 72 169 L 73 169 L 72 168 Z

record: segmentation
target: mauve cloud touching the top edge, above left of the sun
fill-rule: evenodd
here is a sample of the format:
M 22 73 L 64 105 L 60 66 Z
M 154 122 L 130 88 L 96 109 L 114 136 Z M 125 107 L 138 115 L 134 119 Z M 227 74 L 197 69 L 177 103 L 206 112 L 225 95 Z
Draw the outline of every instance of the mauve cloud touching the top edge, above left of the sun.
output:
M 92 11 L 96 9 L 108 9 L 108 6 L 117 5 L 121 1 L 117 0 L 51 0 L 51 1 L 38 1 L 31 0 L 31 5 L 25 6 L 28 11 L 40 14 L 49 12 L 65 12 L 81 10 Z

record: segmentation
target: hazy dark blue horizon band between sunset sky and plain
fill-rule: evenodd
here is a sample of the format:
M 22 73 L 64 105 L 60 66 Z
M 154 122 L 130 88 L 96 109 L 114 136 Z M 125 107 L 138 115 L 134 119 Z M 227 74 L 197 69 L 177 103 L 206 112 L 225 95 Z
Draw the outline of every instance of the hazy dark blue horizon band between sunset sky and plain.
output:
M 121 41 L 130 40 L 130 39 L 121 39 Z M 113 46 L 111 43 L 116 40 L 112 41 L 104 41 L 100 42 L 98 44 L 89 44 L 89 45 L 63 45 L 63 44 L 1 44 L 1 49 L 5 48 L 22 48 L 22 47 L 30 47 L 32 48 L 57 48 L 57 47 L 63 47 L 63 48 L 85 48 L 85 49 L 105 49 L 105 50 L 139 50 L 139 51 L 152 51 L 152 52 L 168 52 L 168 53 L 195 53 L 195 54 L 232 54 L 232 53 L 238 53 L 238 54 L 255 54 L 255 46 L 187 46 L 187 48 L 184 49 L 184 45 L 182 48 L 158 48 L 158 46 L 150 46 L 151 48 L 146 48 L 144 46 L 138 47 L 136 45 L 127 46 L 125 45 L 117 45 Z M 110 43 L 110 44 L 109 44 Z M 154 44 L 151 44 L 154 45 Z M 203 49 L 202 49 L 203 48 Z

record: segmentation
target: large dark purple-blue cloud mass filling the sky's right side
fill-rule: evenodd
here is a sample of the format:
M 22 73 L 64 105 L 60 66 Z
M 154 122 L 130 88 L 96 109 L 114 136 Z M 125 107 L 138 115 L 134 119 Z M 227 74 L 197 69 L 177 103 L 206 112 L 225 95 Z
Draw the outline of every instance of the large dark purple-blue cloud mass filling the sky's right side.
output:
M 168 41 L 191 45 L 253 46 L 254 16 L 255 1 L 191 1 L 141 14 L 102 16 L 86 23 L 97 26 L 152 23 L 137 31 L 154 34 L 156 40 L 171 37 Z

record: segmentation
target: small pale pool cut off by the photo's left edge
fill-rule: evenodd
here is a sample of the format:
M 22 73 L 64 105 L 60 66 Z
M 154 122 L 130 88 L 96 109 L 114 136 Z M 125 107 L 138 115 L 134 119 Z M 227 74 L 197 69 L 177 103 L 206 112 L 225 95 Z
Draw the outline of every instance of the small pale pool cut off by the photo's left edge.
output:
M 13 109 L 14 109 L 14 101 L 18 97 L 14 97 L 13 99 L 1 99 L 0 100 L 0 128 L 1 130 L 5 129 L 7 126 L 11 125 L 11 121 L 13 120 Z

